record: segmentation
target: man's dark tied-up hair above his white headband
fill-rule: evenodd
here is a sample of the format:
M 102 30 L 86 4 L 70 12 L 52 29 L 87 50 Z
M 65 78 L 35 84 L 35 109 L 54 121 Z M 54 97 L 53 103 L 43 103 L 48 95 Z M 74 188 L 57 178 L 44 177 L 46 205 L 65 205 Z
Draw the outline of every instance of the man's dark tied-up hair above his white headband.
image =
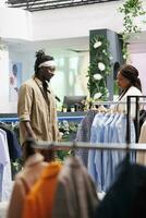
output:
M 35 70 L 35 74 L 38 72 L 39 70 L 39 64 L 40 63 L 44 63 L 46 61 L 50 61 L 50 60 L 53 60 L 53 57 L 51 56 L 46 56 L 46 53 L 44 52 L 44 50 L 39 50 L 36 52 L 36 61 L 35 61 L 35 66 L 34 66 L 34 70 Z

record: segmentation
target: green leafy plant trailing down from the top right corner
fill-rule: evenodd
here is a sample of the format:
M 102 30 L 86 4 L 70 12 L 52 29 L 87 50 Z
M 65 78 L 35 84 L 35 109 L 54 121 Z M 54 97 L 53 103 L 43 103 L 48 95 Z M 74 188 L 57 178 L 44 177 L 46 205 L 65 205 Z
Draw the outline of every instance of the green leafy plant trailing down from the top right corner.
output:
M 136 19 L 146 14 L 146 11 L 143 9 L 142 0 L 126 0 L 122 7 L 119 8 L 120 12 L 123 13 L 123 59 L 129 58 L 127 51 L 127 41 L 131 38 L 131 34 L 141 33 L 141 27 L 136 24 Z M 142 20 L 142 23 L 145 23 L 145 20 Z

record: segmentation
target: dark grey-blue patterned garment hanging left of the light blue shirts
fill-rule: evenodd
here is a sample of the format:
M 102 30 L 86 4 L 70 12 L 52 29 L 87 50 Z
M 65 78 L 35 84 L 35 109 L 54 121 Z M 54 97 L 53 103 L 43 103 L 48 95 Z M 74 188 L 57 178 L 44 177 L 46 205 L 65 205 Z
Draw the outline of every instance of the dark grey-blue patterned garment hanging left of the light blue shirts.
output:
M 81 121 L 76 133 L 76 142 L 90 142 L 92 123 L 97 112 L 97 110 L 89 110 L 85 118 Z M 83 164 L 87 167 L 88 150 L 78 149 L 75 152 L 75 154 L 76 156 L 81 157 Z

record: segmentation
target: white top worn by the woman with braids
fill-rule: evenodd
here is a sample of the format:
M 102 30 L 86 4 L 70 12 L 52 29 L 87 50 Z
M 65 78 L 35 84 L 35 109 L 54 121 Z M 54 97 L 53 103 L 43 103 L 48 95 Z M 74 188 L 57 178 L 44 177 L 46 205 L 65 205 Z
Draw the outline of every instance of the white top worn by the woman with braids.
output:
M 123 97 L 119 100 L 119 104 L 117 106 L 114 106 L 114 109 L 118 110 L 119 112 L 127 112 L 126 111 L 126 100 L 127 100 L 127 96 L 142 96 L 142 92 L 136 88 L 135 86 L 131 86 L 129 88 L 129 90 L 125 93 L 125 95 L 123 95 Z M 141 99 L 143 100 L 143 99 Z M 120 104 L 121 101 L 121 104 Z M 125 104 L 122 104 L 125 102 Z M 131 118 L 135 117 L 135 112 L 136 112 L 136 99 L 135 98 L 131 98 Z

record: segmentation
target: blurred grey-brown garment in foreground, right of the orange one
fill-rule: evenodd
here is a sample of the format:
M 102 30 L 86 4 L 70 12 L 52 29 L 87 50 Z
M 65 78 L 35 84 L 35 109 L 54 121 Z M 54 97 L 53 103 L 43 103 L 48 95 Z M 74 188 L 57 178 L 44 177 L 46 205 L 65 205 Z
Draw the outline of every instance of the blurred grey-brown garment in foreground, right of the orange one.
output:
M 59 173 L 52 218 L 93 218 L 98 205 L 95 185 L 82 161 L 66 159 Z

